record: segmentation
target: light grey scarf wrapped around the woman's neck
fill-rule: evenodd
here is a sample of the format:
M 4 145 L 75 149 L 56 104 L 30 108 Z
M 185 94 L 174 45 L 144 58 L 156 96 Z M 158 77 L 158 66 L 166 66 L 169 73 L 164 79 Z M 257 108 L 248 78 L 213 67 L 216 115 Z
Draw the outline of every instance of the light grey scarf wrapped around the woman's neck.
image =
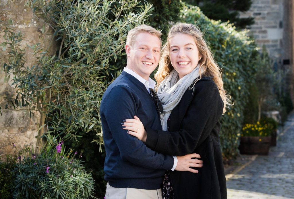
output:
M 167 120 L 173 108 L 181 101 L 183 94 L 199 76 L 199 67 L 179 80 L 176 70 L 171 71 L 168 76 L 159 84 L 157 95 L 163 105 L 163 114 L 160 115 L 162 130 L 167 131 Z

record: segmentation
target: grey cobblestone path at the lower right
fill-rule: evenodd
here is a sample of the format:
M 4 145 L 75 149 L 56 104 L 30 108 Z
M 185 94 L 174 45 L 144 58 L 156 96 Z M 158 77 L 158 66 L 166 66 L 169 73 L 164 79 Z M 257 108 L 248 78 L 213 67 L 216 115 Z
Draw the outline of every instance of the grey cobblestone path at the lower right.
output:
M 243 165 L 226 175 L 228 199 L 294 198 L 294 113 L 268 155 L 242 155 Z

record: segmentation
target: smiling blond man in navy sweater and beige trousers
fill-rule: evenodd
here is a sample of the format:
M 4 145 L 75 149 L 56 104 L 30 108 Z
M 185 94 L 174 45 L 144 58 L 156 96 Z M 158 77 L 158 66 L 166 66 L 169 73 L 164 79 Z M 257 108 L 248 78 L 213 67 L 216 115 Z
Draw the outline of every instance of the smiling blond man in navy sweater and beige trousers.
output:
M 149 88 L 149 75 L 160 58 L 161 33 L 142 25 L 129 31 L 126 41 L 127 66 L 106 89 L 100 107 L 103 139 L 106 199 L 162 198 L 161 185 L 166 170 L 191 171 L 198 154 L 182 157 L 159 154 L 129 135 L 121 126 L 135 115 L 143 125 L 162 129 Z M 196 170 L 192 171 L 196 173 Z

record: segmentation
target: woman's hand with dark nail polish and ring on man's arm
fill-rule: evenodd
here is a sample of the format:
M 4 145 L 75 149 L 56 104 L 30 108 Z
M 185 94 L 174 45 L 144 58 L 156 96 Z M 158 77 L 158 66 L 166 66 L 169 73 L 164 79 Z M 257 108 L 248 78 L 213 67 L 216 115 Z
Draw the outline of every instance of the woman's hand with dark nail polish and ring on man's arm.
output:
M 134 119 L 127 119 L 121 123 L 124 129 L 128 130 L 127 133 L 137 137 L 139 140 L 146 142 L 147 132 L 144 129 L 143 123 L 137 116 Z

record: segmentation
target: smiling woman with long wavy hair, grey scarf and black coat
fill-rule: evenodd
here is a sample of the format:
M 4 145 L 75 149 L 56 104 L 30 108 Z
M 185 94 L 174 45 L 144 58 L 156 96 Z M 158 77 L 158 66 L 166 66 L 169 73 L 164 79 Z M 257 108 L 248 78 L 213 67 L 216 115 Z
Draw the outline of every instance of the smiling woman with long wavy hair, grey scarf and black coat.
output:
M 198 153 L 203 160 L 199 173 L 167 171 L 163 198 L 226 198 L 219 119 L 230 96 L 198 28 L 183 23 L 171 27 L 155 78 L 163 131 L 144 130 L 137 117 L 124 121 L 124 128 L 159 153 Z

